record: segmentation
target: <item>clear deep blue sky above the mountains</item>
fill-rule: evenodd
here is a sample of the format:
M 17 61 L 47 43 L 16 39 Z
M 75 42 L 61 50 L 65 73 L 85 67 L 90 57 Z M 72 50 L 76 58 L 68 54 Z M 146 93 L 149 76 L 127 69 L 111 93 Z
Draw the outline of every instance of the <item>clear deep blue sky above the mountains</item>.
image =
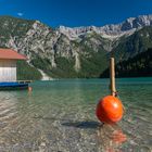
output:
M 103 26 L 143 14 L 152 14 L 152 0 L 0 0 L 0 15 L 51 27 Z

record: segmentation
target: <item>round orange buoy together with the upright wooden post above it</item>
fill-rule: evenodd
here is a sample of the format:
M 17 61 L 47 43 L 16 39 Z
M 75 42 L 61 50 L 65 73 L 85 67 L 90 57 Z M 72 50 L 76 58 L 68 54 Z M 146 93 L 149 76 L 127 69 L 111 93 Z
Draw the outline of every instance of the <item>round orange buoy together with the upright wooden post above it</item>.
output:
M 102 123 L 116 123 L 122 119 L 124 114 L 124 106 L 122 101 L 117 98 L 118 92 L 115 88 L 115 66 L 114 58 L 110 60 L 110 79 L 111 79 L 111 96 L 100 99 L 96 115 Z

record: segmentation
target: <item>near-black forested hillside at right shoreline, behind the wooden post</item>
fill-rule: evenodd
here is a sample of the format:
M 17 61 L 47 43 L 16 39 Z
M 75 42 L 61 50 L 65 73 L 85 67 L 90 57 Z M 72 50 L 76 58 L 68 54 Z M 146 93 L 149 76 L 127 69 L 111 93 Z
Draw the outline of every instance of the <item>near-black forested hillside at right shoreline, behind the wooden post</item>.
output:
M 116 77 L 147 77 L 152 76 L 152 49 L 137 54 L 116 64 Z M 100 77 L 109 77 L 110 68 L 106 68 Z

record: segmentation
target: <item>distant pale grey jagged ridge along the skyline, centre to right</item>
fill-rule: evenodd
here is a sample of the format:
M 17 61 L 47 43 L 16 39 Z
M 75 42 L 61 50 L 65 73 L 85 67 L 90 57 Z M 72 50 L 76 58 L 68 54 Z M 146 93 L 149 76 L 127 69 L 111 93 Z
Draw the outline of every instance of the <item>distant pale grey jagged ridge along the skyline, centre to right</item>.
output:
M 59 30 L 62 34 L 66 35 L 69 39 L 76 39 L 79 36 L 90 31 L 96 31 L 97 34 L 100 34 L 104 38 L 117 38 L 123 35 L 132 34 L 137 29 L 151 25 L 152 25 L 152 15 L 140 15 L 138 17 L 127 18 L 125 22 L 119 24 L 111 24 L 102 27 L 81 26 L 81 27 L 71 28 L 71 27 L 60 26 Z

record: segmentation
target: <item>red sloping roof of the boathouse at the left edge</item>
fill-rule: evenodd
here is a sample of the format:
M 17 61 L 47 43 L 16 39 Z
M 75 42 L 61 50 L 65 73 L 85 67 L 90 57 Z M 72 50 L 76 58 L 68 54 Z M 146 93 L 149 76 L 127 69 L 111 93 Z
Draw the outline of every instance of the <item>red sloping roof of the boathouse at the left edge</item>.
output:
M 18 54 L 12 49 L 0 49 L 0 59 L 27 60 L 25 55 Z

